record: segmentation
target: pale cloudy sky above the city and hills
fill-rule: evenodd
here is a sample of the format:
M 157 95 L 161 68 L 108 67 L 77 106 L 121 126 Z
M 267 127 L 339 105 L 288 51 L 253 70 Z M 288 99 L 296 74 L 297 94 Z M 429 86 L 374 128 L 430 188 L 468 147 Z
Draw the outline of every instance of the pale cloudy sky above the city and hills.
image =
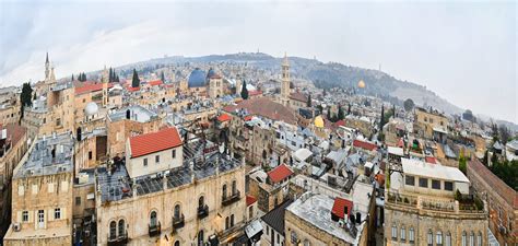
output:
M 378 69 L 518 124 L 514 1 L 4 1 L 0 85 L 151 58 L 261 51 Z

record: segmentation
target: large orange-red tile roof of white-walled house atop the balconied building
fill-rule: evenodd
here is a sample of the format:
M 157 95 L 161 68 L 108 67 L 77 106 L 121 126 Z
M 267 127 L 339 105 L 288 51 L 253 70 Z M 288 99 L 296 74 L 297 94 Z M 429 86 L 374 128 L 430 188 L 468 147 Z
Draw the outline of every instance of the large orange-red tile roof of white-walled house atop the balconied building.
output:
M 131 157 L 164 151 L 181 145 L 181 138 L 176 128 L 166 128 L 157 132 L 130 138 Z

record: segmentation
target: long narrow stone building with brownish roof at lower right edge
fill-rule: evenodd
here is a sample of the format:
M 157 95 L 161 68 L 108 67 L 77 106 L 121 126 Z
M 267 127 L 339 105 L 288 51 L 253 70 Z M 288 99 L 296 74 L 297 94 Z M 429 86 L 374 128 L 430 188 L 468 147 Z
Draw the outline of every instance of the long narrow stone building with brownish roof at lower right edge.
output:
M 468 177 L 487 202 L 490 230 L 499 245 L 518 244 L 518 192 L 475 159 L 468 165 Z

